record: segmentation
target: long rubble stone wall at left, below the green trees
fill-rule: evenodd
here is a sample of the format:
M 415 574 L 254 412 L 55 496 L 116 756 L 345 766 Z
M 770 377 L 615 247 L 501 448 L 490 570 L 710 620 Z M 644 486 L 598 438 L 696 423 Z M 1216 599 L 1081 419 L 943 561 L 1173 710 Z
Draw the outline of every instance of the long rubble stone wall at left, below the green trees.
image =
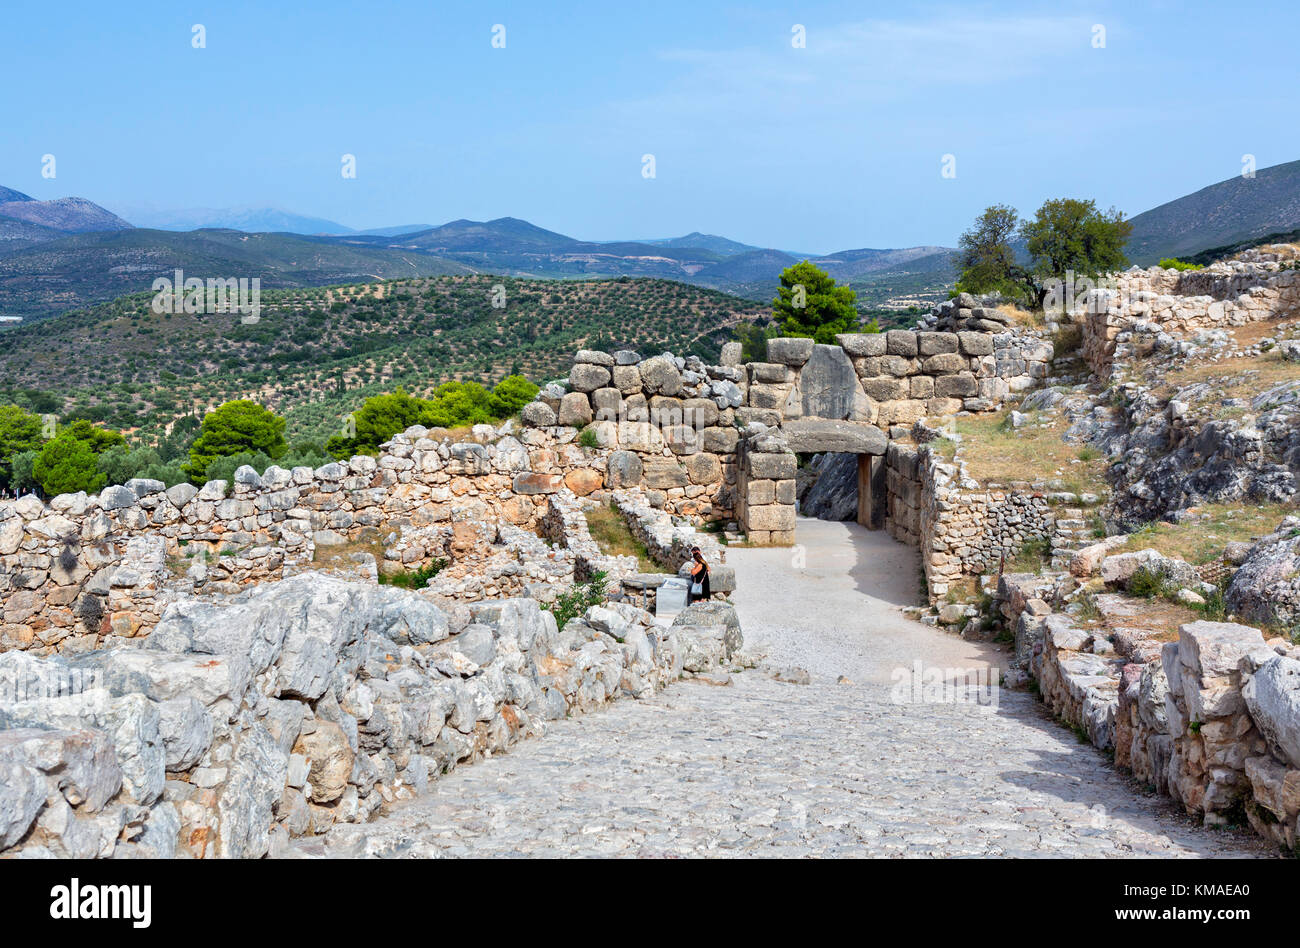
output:
M 134 480 L 0 503 L 0 652 L 133 639 L 179 594 L 282 579 L 346 544 L 382 550 L 390 570 L 448 562 L 437 586 L 451 598 L 569 581 L 575 551 L 546 547 L 537 531 L 551 497 L 603 492 L 608 453 L 580 447 L 572 429 L 516 438 L 485 428 L 486 443 L 412 428 L 377 458 L 244 467 L 233 484 Z

